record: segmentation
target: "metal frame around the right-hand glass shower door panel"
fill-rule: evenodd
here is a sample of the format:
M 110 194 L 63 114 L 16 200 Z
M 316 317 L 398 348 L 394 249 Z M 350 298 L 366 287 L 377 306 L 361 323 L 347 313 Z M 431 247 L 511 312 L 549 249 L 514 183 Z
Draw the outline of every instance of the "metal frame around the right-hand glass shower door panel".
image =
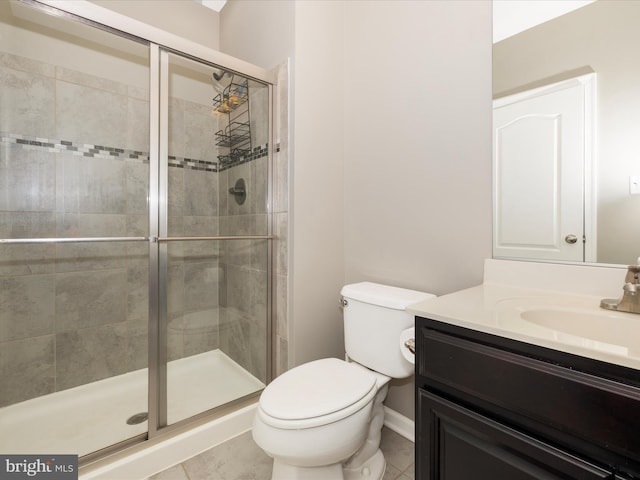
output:
M 157 116 L 151 117 L 150 141 L 154 147 L 150 150 L 150 183 L 149 188 L 153 188 L 157 195 L 149 196 L 149 235 L 150 241 L 156 244 L 156 248 L 150 245 L 150 266 L 149 266 L 149 438 L 155 438 L 161 432 L 170 432 L 180 428 L 185 423 L 193 419 L 206 417 L 209 414 L 202 412 L 194 417 L 168 424 L 168 378 L 167 378 L 167 271 L 168 271 L 168 243 L 185 241 L 235 241 L 235 240 L 267 240 L 267 325 L 266 332 L 266 382 L 272 378 L 272 274 L 273 274 L 273 220 L 272 220 L 272 171 L 273 171 L 273 85 L 264 83 L 269 89 L 268 102 L 268 173 L 267 173 L 267 234 L 266 235 L 220 235 L 220 236 L 169 236 L 168 228 L 168 198 L 169 198 L 169 55 L 178 55 L 188 58 L 203 65 L 210 65 L 212 68 L 224 67 L 226 65 L 216 65 L 204 59 L 193 57 L 192 55 L 178 52 L 174 49 L 151 44 L 150 61 L 151 73 L 157 72 L 156 76 L 150 78 L 150 98 L 158 98 L 158 108 L 152 112 Z M 236 72 L 245 75 L 242 72 Z M 248 77 L 251 78 L 251 77 Z M 157 127 L 157 128 L 156 128 Z M 156 147 L 157 146 L 157 147 Z M 154 156 L 154 154 L 156 156 Z M 152 168 L 153 167 L 153 168 Z M 154 202 L 152 204 L 152 202 Z M 153 272 L 152 272 L 153 270 Z M 157 282 L 157 285 L 153 285 Z M 155 320 L 151 317 L 151 309 L 155 310 Z M 153 325 L 153 332 L 152 332 Z M 154 371 L 152 372 L 152 368 Z M 249 395 L 254 397 L 255 394 Z M 244 398 L 233 400 L 219 408 L 233 406 L 240 403 Z M 218 410 L 214 408 L 213 410 Z M 155 421 L 151 421 L 154 419 Z

